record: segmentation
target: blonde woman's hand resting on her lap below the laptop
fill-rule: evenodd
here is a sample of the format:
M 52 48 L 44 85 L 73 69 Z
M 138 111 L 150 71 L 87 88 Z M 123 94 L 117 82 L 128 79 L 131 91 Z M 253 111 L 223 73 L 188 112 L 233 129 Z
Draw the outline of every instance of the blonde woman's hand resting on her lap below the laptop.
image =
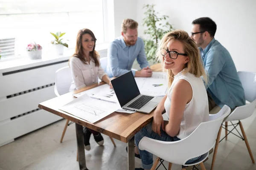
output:
M 155 110 L 153 115 L 152 130 L 155 133 L 157 133 L 159 136 L 161 136 L 161 126 L 162 126 L 162 129 L 164 130 L 164 121 L 163 121 L 162 113 Z

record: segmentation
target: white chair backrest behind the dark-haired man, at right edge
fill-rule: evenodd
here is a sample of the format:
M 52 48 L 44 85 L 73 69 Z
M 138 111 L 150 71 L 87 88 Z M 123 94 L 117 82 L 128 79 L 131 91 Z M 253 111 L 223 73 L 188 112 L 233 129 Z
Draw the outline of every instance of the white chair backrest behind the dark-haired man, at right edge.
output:
M 256 74 L 246 71 L 237 72 L 244 88 L 245 99 L 253 102 L 256 99 Z

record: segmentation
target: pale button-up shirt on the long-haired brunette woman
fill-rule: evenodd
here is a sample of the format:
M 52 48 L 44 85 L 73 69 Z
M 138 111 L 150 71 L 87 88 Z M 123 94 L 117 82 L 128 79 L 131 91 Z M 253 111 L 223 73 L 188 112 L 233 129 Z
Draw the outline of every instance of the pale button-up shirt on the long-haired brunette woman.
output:
M 86 63 L 84 64 L 77 57 L 71 57 L 69 65 L 73 82 L 70 85 L 70 91 L 97 83 L 98 77 L 102 79 L 106 75 L 103 68 L 100 65 L 96 67 L 92 59 L 90 59 L 90 63 Z

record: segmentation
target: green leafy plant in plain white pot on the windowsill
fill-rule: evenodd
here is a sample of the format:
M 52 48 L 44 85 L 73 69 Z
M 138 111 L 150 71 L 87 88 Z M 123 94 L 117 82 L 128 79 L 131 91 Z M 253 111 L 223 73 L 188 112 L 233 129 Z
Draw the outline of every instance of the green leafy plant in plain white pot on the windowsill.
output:
M 50 32 L 53 37 L 55 37 L 55 40 L 51 41 L 51 43 L 55 46 L 56 53 L 58 55 L 63 55 L 64 46 L 68 48 L 68 44 L 63 41 L 63 38 L 61 38 L 66 33 L 57 32 L 56 34 L 53 34 Z

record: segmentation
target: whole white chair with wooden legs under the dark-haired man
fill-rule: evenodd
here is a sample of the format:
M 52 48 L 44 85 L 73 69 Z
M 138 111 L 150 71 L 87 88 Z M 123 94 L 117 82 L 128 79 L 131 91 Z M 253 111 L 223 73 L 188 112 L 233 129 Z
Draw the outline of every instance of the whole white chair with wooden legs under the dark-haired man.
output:
M 248 143 L 247 137 L 245 135 L 244 127 L 243 127 L 242 123 L 240 122 L 240 120 L 250 117 L 253 114 L 253 111 L 255 109 L 255 105 L 256 105 L 256 74 L 251 73 L 251 72 L 239 71 L 238 76 L 239 76 L 239 79 L 241 80 L 242 86 L 244 88 L 245 99 L 250 103 L 237 107 L 232 113 L 230 113 L 229 116 L 227 116 L 227 119 L 224 120 L 225 125 L 222 125 L 222 127 L 225 129 L 224 138 L 227 140 L 227 135 L 230 133 L 233 133 L 232 131 L 235 130 L 238 125 L 240 126 L 242 136 L 237 129 L 236 129 L 236 131 L 239 133 L 239 136 L 236 135 L 235 133 L 233 133 L 233 134 L 244 140 L 247 150 L 250 154 L 250 158 L 254 164 L 255 161 L 253 159 L 253 154 L 250 149 L 250 145 Z M 233 126 L 233 129 L 228 130 L 228 124 L 227 124 L 228 121 L 230 121 L 230 122 L 238 121 L 238 123 L 234 124 L 233 122 L 231 122 L 232 125 L 230 125 L 230 126 Z M 214 167 L 214 163 L 215 163 L 215 159 L 216 159 L 216 155 L 217 155 L 217 151 L 218 151 L 218 143 L 224 139 L 223 138 L 220 140 L 222 127 L 220 128 L 220 130 L 218 132 L 217 139 L 216 139 L 216 145 L 215 145 L 215 149 L 214 149 L 214 153 L 213 153 L 213 157 L 212 157 L 211 170 L 213 170 L 213 167 Z M 228 131 L 229 131 L 229 133 L 227 133 Z

